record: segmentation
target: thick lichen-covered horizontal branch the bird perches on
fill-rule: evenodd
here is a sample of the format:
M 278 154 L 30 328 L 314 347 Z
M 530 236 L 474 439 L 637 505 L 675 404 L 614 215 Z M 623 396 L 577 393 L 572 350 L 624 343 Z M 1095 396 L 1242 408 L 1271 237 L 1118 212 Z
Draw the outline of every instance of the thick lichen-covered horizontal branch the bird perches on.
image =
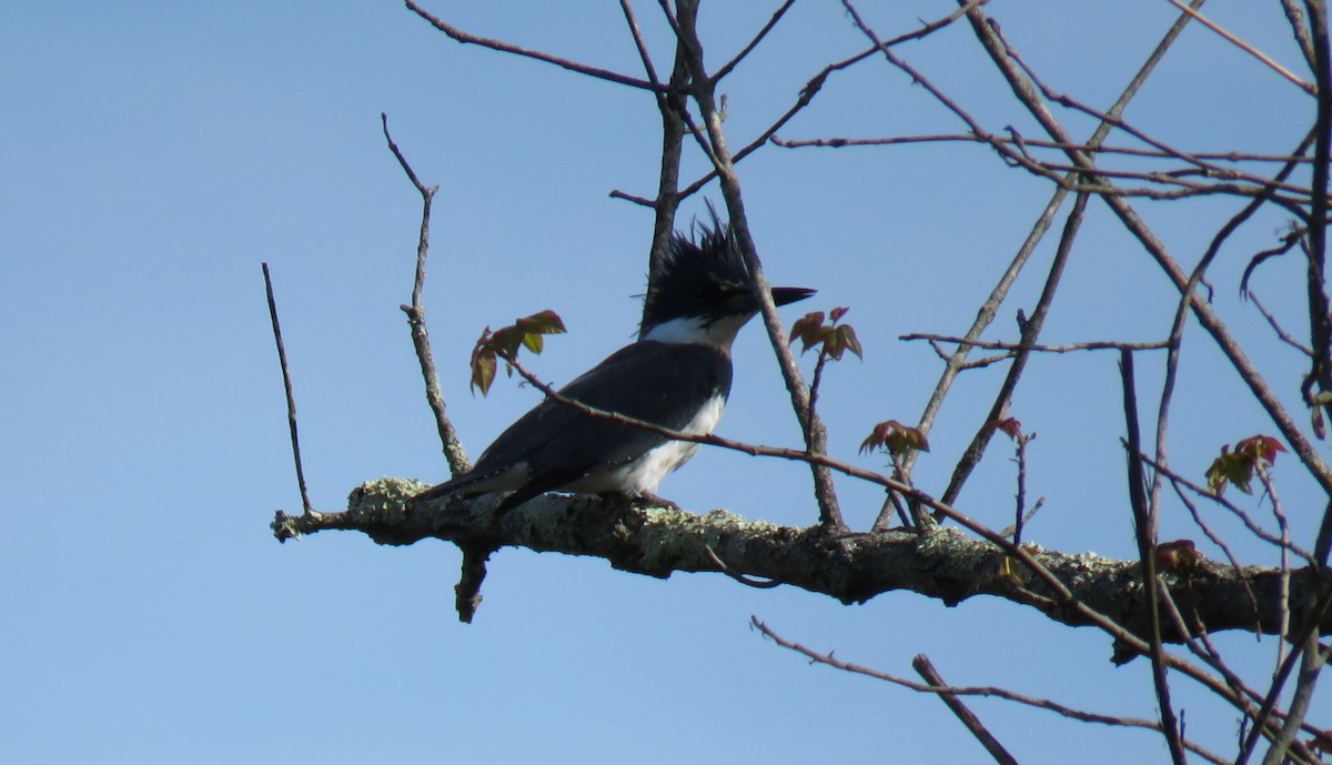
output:
M 386 545 L 409 545 L 425 538 L 464 548 L 521 546 L 537 552 L 593 556 L 621 570 L 654 577 L 675 572 L 718 572 L 709 549 L 730 573 L 774 580 L 840 602 L 864 602 L 891 590 L 908 590 L 956 605 L 972 596 L 990 594 L 1035 608 L 1071 626 L 1094 624 L 1083 609 L 1070 608 L 1039 577 L 1012 576 L 1011 558 L 995 544 L 952 528 L 923 534 L 914 532 L 846 533 L 826 526 L 779 526 L 713 510 L 645 509 L 594 496 L 545 496 L 502 517 L 497 497 L 433 501 L 408 506 L 406 500 L 426 484 L 408 478 L 380 478 L 352 492 L 348 510 L 310 516 L 278 513 L 273 532 L 278 540 L 329 529 L 358 530 Z M 1138 561 L 1068 554 L 1023 545 L 1056 576 L 1078 602 L 1114 618 L 1134 634 L 1148 633 L 1150 613 Z M 1241 578 L 1243 577 L 1243 578 Z M 1248 581 L 1257 600 L 1257 626 L 1280 629 L 1281 572 L 1247 566 L 1236 572 L 1225 562 L 1201 561 L 1188 578 L 1166 577 L 1171 597 L 1187 614 L 1191 630 L 1255 629 Z M 1293 602 L 1309 602 L 1316 592 L 1309 569 L 1291 573 Z M 1303 613 L 1289 614 L 1292 629 Z M 1320 634 L 1332 633 L 1324 614 Z M 1162 638 L 1183 636 L 1171 620 L 1162 621 Z

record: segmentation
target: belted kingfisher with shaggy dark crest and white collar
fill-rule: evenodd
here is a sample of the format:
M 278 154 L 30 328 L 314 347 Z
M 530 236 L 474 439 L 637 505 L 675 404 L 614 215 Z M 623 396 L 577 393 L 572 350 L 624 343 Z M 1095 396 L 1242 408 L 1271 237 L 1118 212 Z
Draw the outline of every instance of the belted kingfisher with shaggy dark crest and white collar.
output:
M 671 430 L 713 432 L 731 390 L 731 341 L 758 313 L 758 300 L 730 227 L 714 215 L 710 228 L 695 228 L 697 240 L 674 233 L 647 275 L 638 340 L 565 385 L 565 397 Z M 777 287 L 773 303 L 814 292 Z M 673 506 L 654 494 L 657 484 L 695 450 L 698 444 L 546 398 L 501 433 L 470 472 L 413 501 L 511 490 L 496 510 L 505 512 L 545 492 L 567 490 Z

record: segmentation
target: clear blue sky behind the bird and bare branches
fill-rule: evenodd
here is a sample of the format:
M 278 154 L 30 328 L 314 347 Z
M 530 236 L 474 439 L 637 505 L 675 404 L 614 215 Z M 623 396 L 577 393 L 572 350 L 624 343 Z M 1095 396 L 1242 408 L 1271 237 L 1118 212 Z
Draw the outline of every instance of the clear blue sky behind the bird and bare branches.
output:
M 661 69 L 669 45 L 639 3 Z M 713 65 L 770 4 L 705 4 Z M 866 4 L 867 7 L 870 4 Z M 948 11 L 870 15 L 884 36 Z M 1169 24 L 1164 1 L 1019 8 L 1004 32 L 1051 85 L 1104 107 Z M 1276 4 L 1208 5 L 1295 67 Z M 430 8 L 481 35 L 639 73 L 613 3 Z M 1088 29 L 1094 31 L 1088 33 Z M 992 131 L 1038 132 L 956 27 L 902 52 Z M 864 40 L 836 3 L 802 3 L 726 85 L 733 145 L 749 141 L 832 60 Z M 481 328 L 543 308 L 571 335 L 534 369 L 566 381 L 626 343 L 638 320 L 651 219 L 609 199 L 655 188 L 657 112 L 629 88 L 460 47 L 390 0 L 49 3 L 0 11 L 0 761 L 56 762 L 883 762 L 984 756 L 935 700 L 809 666 L 747 629 L 750 614 L 838 656 L 910 674 L 928 652 L 958 684 L 1006 685 L 1152 717 L 1142 662 L 1114 669 L 1108 641 L 992 600 L 948 609 L 891 593 L 846 608 L 721 576 L 669 581 L 605 561 L 503 550 L 473 625 L 453 613 L 457 552 L 381 548 L 324 533 L 278 545 L 294 509 L 281 380 L 260 261 L 276 281 L 320 508 L 381 474 L 445 477 L 406 324 L 420 203 L 380 135 L 380 112 L 438 184 L 426 303 L 450 413 L 473 454 L 537 394 L 501 380 L 468 393 Z M 1189 29 L 1130 117 L 1191 149 L 1288 151 L 1312 104 L 1200 28 Z M 1076 132 L 1086 121 L 1071 119 Z M 783 137 L 959 132 L 879 61 L 834 77 Z M 686 176 L 703 168 L 687 160 Z M 960 333 L 1050 189 L 986 149 L 950 144 L 789 152 L 742 165 L 769 277 L 850 305 L 863 363 L 827 375 L 832 449 L 879 420 L 915 420 L 939 372 L 904 332 Z M 707 196 L 717 200 L 715 188 Z M 1235 203 L 1142 205 L 1191 263 Z M 689 203 L 686 215 L 702 209 Z M 1212 271 L 1217 307 L 1293 393 L 1299 367 L 1235 300 L 1244 259 L 1283 223 L 1264 213 Z M 995 325 L 1011 337 L 1054 239 Z M 1299 279 L 1273 264 L 1271 303 Z M 1092 204 L 1048 339 L 1163 337 L 1159 272 Z M 1284 307 L 1284 305 L 1283 305 Z M 789 320 L 801 309 L 786 309 Z M 1289 307 L 1291 320 L 1297 312 Z M 995 335 L 998 336 L 998 335 Z M 1185 351 L 1172 457 L 1200 476 L 1223 442 L 1271 425 L 1196 333 Z M 726 436 L 794 444 L 771 351 L 737 345 Z M 806 359 L 809 363 L 809 359 Z M 1144 386 L 1159 376 L 1146 361 Z M 974 372 L 931 436 L 916 478 L 940 490 L 988 408 L 999 372 Z M 1014 414 L 1040 434 L 1028 534 L 1066 550 L 1134 554 L 1123 501 L 1115 360 L 1032 364 Z M 996 444 L 962 506 L 996 526 L 1012 465 Z M 1287 466 L 1288 465 L 1288 466 Z M 1287 501 L 1296 533 L 1293 462 Z M 705 512 L 803 525 L 799 466 L 703 452 L 662 493 Z M 846 484 L 854 525 L 880 496 Z M 1181 513 L 1167 536 L 1197 537 Z M 1241 546 L 1245 560 L 1273 562 Z M 1251 636 L 1223 646 L 1269 661 Z M 1183 684 L 1181 684 L 1183 685 Z M 1187 689 L 1187 686 L 1184 686 Z M 1189 733 L 1221 746 L 1233 716 L 1192 700 Z M 1108 733 L 978 702 L 1023 762 L 1159 758 L 1146 734 Z M 1327 722 L 1325 720 L 1323 722 Z M 1098 757 L 1098 753 L 1103 757 Z

